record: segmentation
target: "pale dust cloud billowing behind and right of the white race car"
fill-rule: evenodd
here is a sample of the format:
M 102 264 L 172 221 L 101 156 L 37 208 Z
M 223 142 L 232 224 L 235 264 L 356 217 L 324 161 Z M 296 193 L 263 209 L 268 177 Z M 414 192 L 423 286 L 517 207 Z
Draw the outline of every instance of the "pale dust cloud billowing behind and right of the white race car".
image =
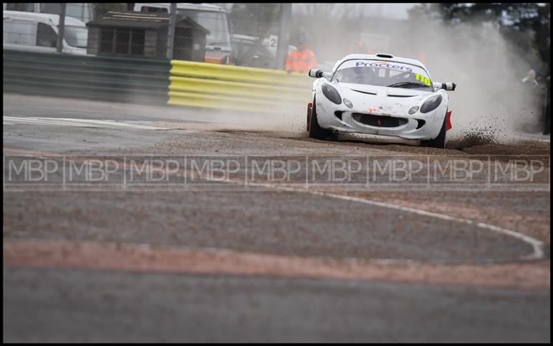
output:
M 448 92 L 453 124 L 448 142 L 508 144 L 523 133 L 541 131 L 543 96 L 521 83 L 531 68 L 522 57 L 534 52 L 521 52 L 491 23 L 453 27 L 425 18 L 299 20 L 326 70 L 349 54 L 355 41 L 365 43 L 371 53 L 380 52 L 378 44 L 363 41 L 368 33 L 387 37 L 386 52 L 423 61 L 433 81 L 455 82 L 456 90 Z

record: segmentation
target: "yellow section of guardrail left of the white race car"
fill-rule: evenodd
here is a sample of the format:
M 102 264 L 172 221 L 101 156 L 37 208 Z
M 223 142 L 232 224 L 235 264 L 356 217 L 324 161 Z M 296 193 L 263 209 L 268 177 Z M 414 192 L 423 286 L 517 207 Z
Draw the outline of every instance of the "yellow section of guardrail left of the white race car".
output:
M 311 98 L 308 75 L 192 61 L 171 61 L 171 105 L 282 113 L 305 108 Z

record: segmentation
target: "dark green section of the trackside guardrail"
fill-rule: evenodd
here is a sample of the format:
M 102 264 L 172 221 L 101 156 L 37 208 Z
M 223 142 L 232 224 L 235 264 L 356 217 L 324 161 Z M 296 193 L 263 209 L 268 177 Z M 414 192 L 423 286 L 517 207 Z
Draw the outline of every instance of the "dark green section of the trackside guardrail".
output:
M 166 104 L 169 60 L 3 50 L 3 91 Z

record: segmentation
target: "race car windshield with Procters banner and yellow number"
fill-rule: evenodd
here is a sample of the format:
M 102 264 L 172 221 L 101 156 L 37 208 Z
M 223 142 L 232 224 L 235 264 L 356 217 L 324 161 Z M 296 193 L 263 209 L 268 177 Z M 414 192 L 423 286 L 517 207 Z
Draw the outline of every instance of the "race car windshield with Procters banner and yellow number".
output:
M 332 81 L 433 92 L 431 80 L 424 69 L 393 61 L 345 61 L 332 75 Z

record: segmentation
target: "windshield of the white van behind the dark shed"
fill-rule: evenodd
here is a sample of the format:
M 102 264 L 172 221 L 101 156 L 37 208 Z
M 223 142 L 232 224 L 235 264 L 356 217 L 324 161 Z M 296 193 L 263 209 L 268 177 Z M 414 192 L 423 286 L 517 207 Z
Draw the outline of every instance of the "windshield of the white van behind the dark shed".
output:
M 209 30 L 205 44 L 215 46 L 230 46 L 230 35 L 225 12 L 202 10 L 177 10 L 179 15 L 187 15 L 200 26 Z

